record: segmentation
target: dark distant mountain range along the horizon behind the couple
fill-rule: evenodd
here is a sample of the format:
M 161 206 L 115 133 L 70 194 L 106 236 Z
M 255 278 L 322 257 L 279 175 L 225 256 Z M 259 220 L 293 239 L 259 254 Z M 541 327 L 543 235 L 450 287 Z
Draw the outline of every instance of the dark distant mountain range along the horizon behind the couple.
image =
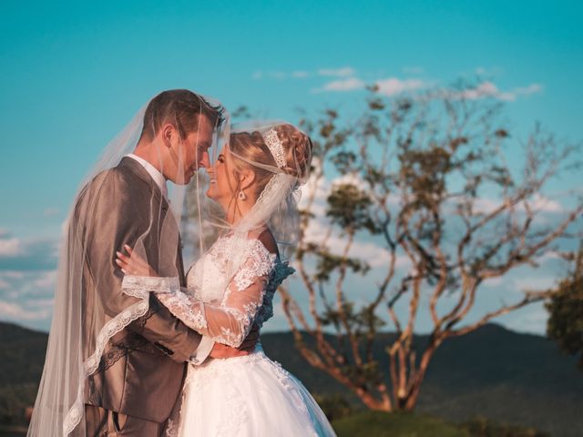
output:
M 19 422 L 34 402 L 46 353 L 46 333 L 0 322 L 0 422 Z M 394 334 L 379 334 L 374 354 L 388 366 L 384 346 Z M 421 346 L 426 336 L 417 336 Z M 293 347 L 290 332 L 261 336 L 267 354 L 319 394 L 342 385 L 313 369 Z M 524 424 L 555 437 L 583 435 L 583 372 L 544 337 L 486 325 L 447 340 L 435 353 L 419 400 L 420 412 L 461 422 L 483 416 Z

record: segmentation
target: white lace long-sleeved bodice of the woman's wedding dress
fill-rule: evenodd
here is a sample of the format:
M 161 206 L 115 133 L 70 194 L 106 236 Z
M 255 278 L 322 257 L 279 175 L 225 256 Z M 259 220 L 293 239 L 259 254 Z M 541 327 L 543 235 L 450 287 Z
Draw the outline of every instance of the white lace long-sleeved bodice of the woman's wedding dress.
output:
M 189 328 L 217 342 L 240 346 L 253 322 L 260 327 L 273 315 L 273 295 L 293 269 L 281 262 L 259 239 L 235 248 L 222 237 L 199 259 L 187 275 L 186 290 L 178 280 L 126 276 L 129 289 L 155 291 L 157 298 Z M 240 266 L 230 274 L 235 259 Z

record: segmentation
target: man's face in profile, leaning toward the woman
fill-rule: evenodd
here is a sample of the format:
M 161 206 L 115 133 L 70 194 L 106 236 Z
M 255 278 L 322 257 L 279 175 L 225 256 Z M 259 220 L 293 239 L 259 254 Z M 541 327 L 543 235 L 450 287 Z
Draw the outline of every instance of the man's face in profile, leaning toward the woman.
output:
M 166 177 L 179 185 L 188 184 L 199 168 L 208 168 L 210 165 L 209 148 L 214 129 L 209 118 L 198 117 L 198 128 L 170 146 L 176 158 Z

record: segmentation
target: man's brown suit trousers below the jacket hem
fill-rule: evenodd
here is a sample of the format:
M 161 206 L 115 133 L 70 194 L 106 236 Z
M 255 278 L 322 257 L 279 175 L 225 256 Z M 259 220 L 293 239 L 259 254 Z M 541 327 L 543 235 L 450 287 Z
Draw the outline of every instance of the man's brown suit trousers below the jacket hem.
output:
M 159 437 L 166 422 L 150 422 L 121 412 L 112 412 L 94 405 L 85 405 L 87 437 L 139 436 Z

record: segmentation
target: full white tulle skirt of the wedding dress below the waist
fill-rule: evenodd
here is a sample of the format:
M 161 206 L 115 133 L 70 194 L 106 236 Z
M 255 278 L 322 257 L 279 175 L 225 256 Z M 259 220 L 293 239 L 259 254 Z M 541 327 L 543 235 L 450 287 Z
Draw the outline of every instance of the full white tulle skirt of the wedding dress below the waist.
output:
M 179 436 L 335 436 L 312 395 L 258 345 L 248 356 L 189 366 Z

